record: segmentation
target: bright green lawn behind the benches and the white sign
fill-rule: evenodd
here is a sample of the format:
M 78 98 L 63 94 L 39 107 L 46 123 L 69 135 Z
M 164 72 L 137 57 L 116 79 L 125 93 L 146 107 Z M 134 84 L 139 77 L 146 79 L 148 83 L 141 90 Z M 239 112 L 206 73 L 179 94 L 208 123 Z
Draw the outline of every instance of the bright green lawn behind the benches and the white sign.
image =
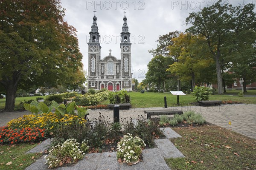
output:
M 254 90 L 255 92 L 255 90 Z M 250 92 L 250 93 L 254 93 Z M 131 96 L 131 105 L 133 108 L 153 108 L 153 107 L 164 107 L 164 96 L 167 99 L 167 106 L 177 106 L 177 96 L 170 94 L 169 92 L 165 93 L 154 93 L 154 92 L 145 92 L 141 94 L 139 92 L 128 93 Z M 239 97 L 237 95 L 211 95 L 210 100 L 232 100 L 241 103 L 256 104 L 256 97 Z M 192 102 L 196 102 L 192 94 L 186 94 L 186 96 L 180 96 L 180 105 L 192 105 Z M 100 102 L 101 105 L 109 104 L 108 100 Z

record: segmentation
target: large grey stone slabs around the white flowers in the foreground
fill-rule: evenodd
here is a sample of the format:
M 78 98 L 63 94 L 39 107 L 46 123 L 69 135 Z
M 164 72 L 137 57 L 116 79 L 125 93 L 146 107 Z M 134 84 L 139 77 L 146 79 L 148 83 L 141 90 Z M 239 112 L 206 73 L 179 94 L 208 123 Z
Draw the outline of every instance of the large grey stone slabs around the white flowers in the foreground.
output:
M 184 155 L 175 147 L 169 139 L 172 136 L 179 136 L 171 128 L 162 128 L 168 134 L 168 139 L 155 139 L 154 142 L 157 148 L 143 150 L 143 161 L 136 165 L 129 166 L 127 164 L 118 163 L 116 160 L 116 152 L 104 152 L 104 153 L 88 153 L 84 156 L 84 159 L 80 160 L 72 167 L 59 167 L 56 170 L 171 170 L 165 162 L 165 158 L 177 158 L 184 157 Z M 42 142 L 28 153 L 40 153 L 49 148 L 51 139 L 47 139 Z M 47 170 L 47 165 L 44 164 L 46 159 L 42 156 L 40 159 L 31 164 L 26 170 Z

